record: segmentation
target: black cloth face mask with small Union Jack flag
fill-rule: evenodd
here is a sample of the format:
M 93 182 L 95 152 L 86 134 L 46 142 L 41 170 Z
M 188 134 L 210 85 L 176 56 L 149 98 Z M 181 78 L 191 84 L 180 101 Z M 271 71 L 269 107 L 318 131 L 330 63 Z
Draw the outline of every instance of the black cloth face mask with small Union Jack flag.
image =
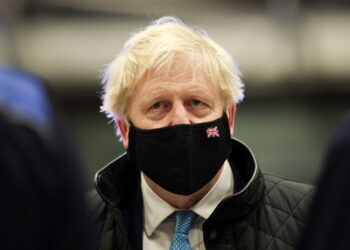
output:
M 205 123 L 144 130 L 130 126 L 127 154 L 164 189 L 189 195 L 207 184 L 231 152 L 226 114 Z

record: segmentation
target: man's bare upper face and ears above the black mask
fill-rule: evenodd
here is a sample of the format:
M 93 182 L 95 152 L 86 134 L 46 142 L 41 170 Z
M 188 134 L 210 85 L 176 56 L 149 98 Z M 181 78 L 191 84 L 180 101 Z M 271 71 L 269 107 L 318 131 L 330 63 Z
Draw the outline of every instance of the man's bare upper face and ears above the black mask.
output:
M 203 74 L 173 69 L 148 74 L 135 88 L 129 103 L 129 119 L 141 129 L 155 129 L 177 124 L 209 122 L 222 116 L 223 98 Z M 233 126 L 234 106 L 229 111 Z M 128 125 L 118 121 L 125 148 L 128 147 Z

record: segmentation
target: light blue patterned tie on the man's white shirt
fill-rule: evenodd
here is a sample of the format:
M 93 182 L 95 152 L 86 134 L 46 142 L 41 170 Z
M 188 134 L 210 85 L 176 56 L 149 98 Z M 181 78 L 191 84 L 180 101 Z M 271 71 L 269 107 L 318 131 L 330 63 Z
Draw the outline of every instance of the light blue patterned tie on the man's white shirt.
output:
M 188 232 L 193 225 L 196 214 L 191 210 L 180 210 L 175 212 L 175 234 L 170 250 L 191 250 L 188 241 Z

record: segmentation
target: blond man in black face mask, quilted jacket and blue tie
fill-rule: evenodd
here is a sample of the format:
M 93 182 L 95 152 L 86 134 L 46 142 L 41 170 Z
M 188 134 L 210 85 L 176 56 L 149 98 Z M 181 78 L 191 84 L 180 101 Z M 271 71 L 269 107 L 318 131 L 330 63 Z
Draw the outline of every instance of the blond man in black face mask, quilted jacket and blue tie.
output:
M 312 188 L 262 175 L 231 139 L 243 84 L 223 48 L 164 17 L 104 83 L 127 153 L 96 174 L 100 249 L 294 249 Z

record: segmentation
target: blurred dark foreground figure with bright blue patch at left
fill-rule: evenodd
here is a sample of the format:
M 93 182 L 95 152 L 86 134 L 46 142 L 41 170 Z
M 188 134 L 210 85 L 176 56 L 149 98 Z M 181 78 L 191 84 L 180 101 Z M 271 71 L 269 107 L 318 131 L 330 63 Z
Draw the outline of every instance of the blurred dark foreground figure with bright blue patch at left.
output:
M 95 249 L 84 185 L 42 81 L 0 67 L 0 249 Z

